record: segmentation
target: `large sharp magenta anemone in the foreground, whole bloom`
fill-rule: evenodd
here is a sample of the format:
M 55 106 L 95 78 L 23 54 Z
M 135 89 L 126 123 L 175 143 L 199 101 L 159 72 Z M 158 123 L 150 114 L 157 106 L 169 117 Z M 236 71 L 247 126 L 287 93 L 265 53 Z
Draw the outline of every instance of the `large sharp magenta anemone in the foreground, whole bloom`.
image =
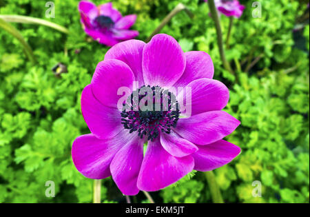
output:
M 87 178 L 112 175 L 123 194 L 135 195 L 163 189 L 193 169 L 205 172 L 232 161 L 240 148 L 223 138 L 240 122 L 222 111 L 229 90 L 213 75 L 209 54 L 183 52 L 167 34 L 156 34 L 149 43 L 129 40 L 114 45 L 81 95 L 91 134 L 73 143 L 76 169 Z M 123 87 L 128 98 L 120 95 Z M 147 96 L 142 91 L 147 87 L 150 104 L 154 100 L 163 105 L 164 94 L 154 98 L 154 92 L 165 90 L 167 109 L 134 106 Z M 173 87 L 184 91 L 174 94 L 169 91 Z M 186 111 L 180 106 L 183 96 L 191 99 Z M 129 105 L 126 110 L 119 109 L 120 101 L 121 106 Z

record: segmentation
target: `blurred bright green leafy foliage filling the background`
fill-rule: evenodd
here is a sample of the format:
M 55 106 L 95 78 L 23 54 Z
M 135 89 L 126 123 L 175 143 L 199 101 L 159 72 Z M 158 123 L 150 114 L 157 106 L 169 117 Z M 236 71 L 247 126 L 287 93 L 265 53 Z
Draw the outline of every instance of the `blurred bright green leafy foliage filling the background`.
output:
M 87 39 L 75 0 L 54 0 L 55 18 L 45 18 L 46 1 L 1 0 L 0 14 L 47 19 L 70 30 L 13 23 L 34 50 L 32 65 L 12 35 L 0 30 L 0 202 L 91 203 L 93 180 L 76 171 L 71 159 L 76 136 L 89 133 L 81 115 L 80 97 L 94 68 L 108 48 Z M 105 0 L 94 3 L 105 3 Z M 161 32 L 172 35 L 184 51 L 202 50 L 215 65 L 215 79 L 230 90 L 227 112 L 241 121 L 227 140 L 242 148 L 228 165 L 214 170 L 227 203 L 309 203 L 309 18 L 293 32 L 307 2 L 260 1 L 262 17 L 254 19 L 251 1 L 234 21 L 227 59 L 238 81 L 223 70 L 216 30 L 206 3 L 198 0 L 112 1 L 122 14 L 138 14 L 134 29 L 145 40 L 178 2 L 195 14 L 180 12 Z M 309 10 L 308 10 L 309 16 Z M 221 16 L 223 35 L 229 19 Z M 225 37 L 224 37 L 225 39 Z M 258 59 L 249 72 L 247 65 Z M 54 76 L 62 62 L 68 73 Z M 54 198 L 45 197 L 45 182 L 53 180 Z M 252 196 L 254 180 L 262 197 Z M 178 187 L 176 187 L 178 185 Z M 160 192 L 156 202 L 210 203 L 205 175 L 196 172 Z M 102 182 L 103 203 L 124 203 L 112 178 Z M 134 202 L 146 203 L 140 193 Z

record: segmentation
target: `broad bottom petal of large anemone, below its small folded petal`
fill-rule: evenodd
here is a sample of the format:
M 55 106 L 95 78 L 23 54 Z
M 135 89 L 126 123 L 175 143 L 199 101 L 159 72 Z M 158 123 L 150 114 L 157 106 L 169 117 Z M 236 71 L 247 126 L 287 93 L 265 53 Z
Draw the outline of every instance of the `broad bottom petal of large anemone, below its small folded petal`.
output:
M 138 176 L 138 189 L 147 192 L 163 189 L 192 172 L 192 156 L 177 158 L 163 149 L 159 138 L 149 141 Z

